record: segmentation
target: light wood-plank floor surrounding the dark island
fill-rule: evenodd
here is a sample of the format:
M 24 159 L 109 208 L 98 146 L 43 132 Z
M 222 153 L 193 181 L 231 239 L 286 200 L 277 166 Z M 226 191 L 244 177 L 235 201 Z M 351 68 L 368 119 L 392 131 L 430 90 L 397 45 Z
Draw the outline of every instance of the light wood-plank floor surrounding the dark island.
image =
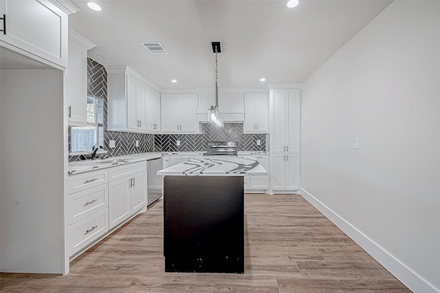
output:
M 163 202 L 72 261 L 1 292 L 410 292 L 300 195 L 245 195 L 245 274 L 165 273 Z

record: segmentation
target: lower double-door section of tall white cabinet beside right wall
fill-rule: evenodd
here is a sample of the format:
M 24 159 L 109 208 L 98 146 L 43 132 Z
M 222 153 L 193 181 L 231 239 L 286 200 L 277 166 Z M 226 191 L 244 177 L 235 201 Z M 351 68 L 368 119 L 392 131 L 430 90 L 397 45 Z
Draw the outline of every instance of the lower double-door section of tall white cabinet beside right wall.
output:
M 277 153 L 270 157 L 272 191 L 298 191 L 300 189 L 300 154 Z

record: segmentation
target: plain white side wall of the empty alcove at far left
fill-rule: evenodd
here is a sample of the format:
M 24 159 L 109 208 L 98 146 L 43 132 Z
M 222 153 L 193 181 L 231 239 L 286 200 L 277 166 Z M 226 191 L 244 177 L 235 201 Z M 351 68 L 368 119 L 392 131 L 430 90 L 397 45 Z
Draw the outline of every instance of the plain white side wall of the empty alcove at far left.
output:
M 63 273 L 63 72 L 1 70 L 1 272 Z

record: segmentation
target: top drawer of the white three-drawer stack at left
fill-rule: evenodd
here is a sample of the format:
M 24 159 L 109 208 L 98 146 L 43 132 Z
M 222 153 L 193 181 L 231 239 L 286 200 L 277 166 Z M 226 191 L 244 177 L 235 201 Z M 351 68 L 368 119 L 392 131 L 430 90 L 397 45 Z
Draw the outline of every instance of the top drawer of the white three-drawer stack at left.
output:
M 109 182 L 109 169 L 101 169 L 75 175 L 69 175 L 67 179 L 67 194 L 84 191 L 87 188 Z

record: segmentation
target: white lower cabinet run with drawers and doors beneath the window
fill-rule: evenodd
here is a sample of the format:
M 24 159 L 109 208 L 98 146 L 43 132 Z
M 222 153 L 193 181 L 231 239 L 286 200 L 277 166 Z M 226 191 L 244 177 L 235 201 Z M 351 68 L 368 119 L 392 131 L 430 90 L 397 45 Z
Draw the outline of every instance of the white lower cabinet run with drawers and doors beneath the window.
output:
M 71 257 L 146 208 L 146 161 L 69 175 L 65 221 Z

